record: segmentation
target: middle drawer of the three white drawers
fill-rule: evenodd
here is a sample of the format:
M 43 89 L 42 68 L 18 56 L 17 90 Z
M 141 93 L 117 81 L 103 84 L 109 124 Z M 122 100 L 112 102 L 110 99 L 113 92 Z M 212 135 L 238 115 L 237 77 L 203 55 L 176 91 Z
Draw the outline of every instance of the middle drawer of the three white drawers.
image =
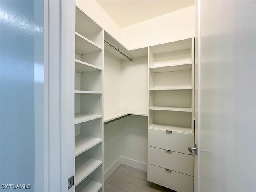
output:
M 193 176 L 194 156 L 148 147 L 148 164 Z

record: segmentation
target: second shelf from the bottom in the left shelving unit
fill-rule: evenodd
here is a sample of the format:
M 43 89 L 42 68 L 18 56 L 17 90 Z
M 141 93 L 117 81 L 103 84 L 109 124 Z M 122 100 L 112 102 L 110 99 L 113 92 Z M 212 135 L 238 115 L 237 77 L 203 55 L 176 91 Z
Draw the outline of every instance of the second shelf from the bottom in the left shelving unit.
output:
M 75 186 L 102 164 L 102 161 L 88 156 L 85 156 L 83 160 L 83 164 L 76 166 Z

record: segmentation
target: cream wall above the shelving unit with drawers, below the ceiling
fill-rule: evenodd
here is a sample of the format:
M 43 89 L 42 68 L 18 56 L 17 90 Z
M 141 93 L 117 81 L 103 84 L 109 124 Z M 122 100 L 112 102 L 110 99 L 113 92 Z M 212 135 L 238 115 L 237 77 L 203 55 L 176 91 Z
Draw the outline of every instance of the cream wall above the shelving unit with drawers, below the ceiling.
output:
M 195 6 L 122 28 L 122 44 L 128 49 L 171 42 L 192 36 L 195 36 Z

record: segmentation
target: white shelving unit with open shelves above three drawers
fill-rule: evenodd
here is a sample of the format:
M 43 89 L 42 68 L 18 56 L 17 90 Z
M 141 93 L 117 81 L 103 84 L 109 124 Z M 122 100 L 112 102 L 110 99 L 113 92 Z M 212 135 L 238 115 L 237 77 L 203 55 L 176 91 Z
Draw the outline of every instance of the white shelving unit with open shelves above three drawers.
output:
M 193 192 L 194 38 L 149 47 L 148 75 L 148 180 Z

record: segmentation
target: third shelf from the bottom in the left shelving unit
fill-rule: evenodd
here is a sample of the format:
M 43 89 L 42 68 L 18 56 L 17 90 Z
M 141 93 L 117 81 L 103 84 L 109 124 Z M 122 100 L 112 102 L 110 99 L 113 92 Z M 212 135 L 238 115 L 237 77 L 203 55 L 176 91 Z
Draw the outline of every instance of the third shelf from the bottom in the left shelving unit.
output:
M 75 137 L 75 157 L 102 142 L 102 139 L 78 135 Z

